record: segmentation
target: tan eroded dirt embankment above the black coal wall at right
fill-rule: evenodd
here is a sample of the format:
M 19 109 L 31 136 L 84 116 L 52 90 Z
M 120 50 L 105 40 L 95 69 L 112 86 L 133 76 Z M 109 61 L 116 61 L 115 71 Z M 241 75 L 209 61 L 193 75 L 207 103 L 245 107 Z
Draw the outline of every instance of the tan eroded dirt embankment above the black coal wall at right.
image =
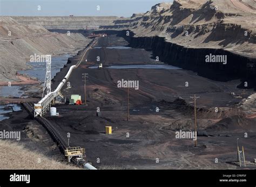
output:
M 100 28 L 129 29 L 136 37 L 157 35 L 188 48 L 223 48 L 255 59 L 256 11 L 250 5 L 253 1 L 235 4 L 229 0 L 159 3 L 144 14 L 134 14 Z

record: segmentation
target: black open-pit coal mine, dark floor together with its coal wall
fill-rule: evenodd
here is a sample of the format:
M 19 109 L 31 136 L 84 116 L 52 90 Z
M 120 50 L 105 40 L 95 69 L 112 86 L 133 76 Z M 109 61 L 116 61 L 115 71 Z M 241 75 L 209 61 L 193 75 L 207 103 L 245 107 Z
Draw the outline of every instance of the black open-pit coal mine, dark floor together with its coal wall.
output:
M 50 30 L 66 33 L 66 30 Z M 45 114 L 62 136 L 70 133 L 70 143 L 85 148 L 86 160 L 97 169 L 240 169 L 237 162 L 237 138 L 245 147 L 248 169 L 255 169 L 255 118 L 239 107 L 243 99 L 254 93 L 255 59 L 222 49 L 186 48 L 166 42 L 160 37 L 130 37 L 124 31 L 74 30 L 84 36 L 106 33 L 95 44 L 69 57 L 65 66 L 52 79 L 52 89 L 72 71 L 62 89 L 66 103 L 52 105 L 59 116 Z M 92 44 L 92 43 L 90 43 Z M 88 44 L 88 46 L 90 45 Z M 227 55 L 228 63 L 205 63 L 208 54 Z M 83 57 L 82 57 L 83 56 Z M 103 68 L 98 66 L 97 57 Z M 170 64 L 177 69 L 118 69 L 110 66 Z M 82 74 L 88 74 L 86 103 Z M 118 88 L 119 80 L 138 80 L 139 89 L 129 89 L 129 120 L 127 120 L 127 89 Z M 243 82 L 248 82 L 244 87 Z M 185 83 L 190 86 L 186 88 Z M 246 91 L 245 91 L 246 89 Z M 235 96 L 231 93 L 235 92 Z M 197 99 L 197 147 L 192 139 L 177 138 L 177 133 L 194 130 L 194 106 Z M 71 95 L 80 95 L 82 105 L 69 105 Z M 38 98 L 39 100 L 39 98 Z M 98 108 L 100 115 L 97 114 Z M 15 112 L 5 127 L 23 126 L 26 147 L 37 147 L 48 156 L 66 158 L 52 146 L 46 130 L 28 117 L 24 109 Z M 35 124 L 37 129 L 27 126 Z M 105 127 L 112 127 L 106 134 Z M 35 137 L 41 132 L 44 137 Z M 247 138 L 244 134 L 247 133 Z M 31 132 L 30 132 L 31 134 Z M 45 138 L 47 141 L 38 141 Z M 29 143 L 28 143 L 29 142 Z M 215 163 L 218 158 L 219 163 Z M 159 160 L 159 162 L 156 162 Z

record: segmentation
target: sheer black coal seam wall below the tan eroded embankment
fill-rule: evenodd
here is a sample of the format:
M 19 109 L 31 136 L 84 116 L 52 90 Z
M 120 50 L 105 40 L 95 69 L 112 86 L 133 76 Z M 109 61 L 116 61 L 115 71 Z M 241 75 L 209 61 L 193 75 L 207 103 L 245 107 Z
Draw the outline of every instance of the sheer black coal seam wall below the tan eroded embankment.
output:
M 130 47 L 145 48 L 152 51 L 154 57 L 159 56 L 160 61 L 195 71 L 199 76 L 224 82 L 240 79 L 241 84 L 238 85 L 238 88 L 254 88 L 256 90 L 256 59 L 234 54 L 223 49 L 187 48 L 167 42 L 163 37 L 134 37 L 134 33 L 131 31 L 130 36 L 127 37 L 126 31 L 106 30 L 97 32 L 117 34 L 119 37 L 125 38 L 130 43 Z M 206 55 L 210 54 L 227 55 L 227 64 L 205 62 Z M 244 82 L 248 82 L 248 87 L 244 87 Z

